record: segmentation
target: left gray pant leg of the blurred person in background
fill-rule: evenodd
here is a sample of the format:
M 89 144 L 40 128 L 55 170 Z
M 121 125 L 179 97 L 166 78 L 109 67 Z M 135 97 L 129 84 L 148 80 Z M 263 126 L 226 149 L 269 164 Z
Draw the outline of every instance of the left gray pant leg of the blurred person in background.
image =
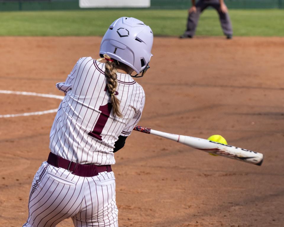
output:
M 199 0 L 196 3 L 196 13 L 192 12 L 188 14 L 188 19 L 187 19 L 187 29 L 185 31 L 185 35 L 190 35 L 193 37 L 195 34 L 196 26 L 198 24 L 199 16 L 201 12 L 206 9 L 208 5 L 204 3 L 204 1 Z

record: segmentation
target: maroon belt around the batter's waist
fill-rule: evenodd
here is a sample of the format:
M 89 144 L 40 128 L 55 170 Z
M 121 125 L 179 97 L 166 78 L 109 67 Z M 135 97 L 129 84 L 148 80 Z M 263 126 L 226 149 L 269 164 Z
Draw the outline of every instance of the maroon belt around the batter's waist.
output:
M 97 166 L 97 165 L 88 165 L 88 164 L 79 164 L 73 161 L 69 161 L 67 159 L 61 158 L 53 153 L 49 153 L 47 163 L 55 167 L 61 167 L 67 169 L 72 174 L 77 176 L 96 176 L 101 172 L 111 172 L 112 166 Z

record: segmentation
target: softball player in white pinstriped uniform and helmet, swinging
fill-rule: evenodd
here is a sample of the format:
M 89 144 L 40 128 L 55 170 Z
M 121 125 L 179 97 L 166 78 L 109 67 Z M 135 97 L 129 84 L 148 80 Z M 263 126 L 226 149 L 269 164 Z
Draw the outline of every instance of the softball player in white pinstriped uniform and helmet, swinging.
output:
M 145 94 L 130 74 L 143 76 L 149 68 L 152 44 L 149 26 L 121 17 L 101 41 L 103 58 L 80 58 L 56 85 L 65 97 L 51 128 L 48 160 L 33 179 L 23 226 L 56 226 L 69 217 L 74 226 L 118 226 L 111 165 L 141 118 Z

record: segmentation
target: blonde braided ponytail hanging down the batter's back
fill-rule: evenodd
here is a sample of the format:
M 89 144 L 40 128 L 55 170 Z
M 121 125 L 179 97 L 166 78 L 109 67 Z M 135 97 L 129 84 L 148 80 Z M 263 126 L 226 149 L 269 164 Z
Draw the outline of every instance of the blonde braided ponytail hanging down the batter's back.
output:
M 117 87 L 117 69 L 115 68 L 116 64 L 114 61 L 106 61 L 106 69 L 105 74 L 108 80 L 107 89 L 110 93 L 110 99 L 113 106 L 114 113 L 118 117 L 122 117 L 122 113 L 120 111 L 120 100 L 115 96 L 115 90 Z

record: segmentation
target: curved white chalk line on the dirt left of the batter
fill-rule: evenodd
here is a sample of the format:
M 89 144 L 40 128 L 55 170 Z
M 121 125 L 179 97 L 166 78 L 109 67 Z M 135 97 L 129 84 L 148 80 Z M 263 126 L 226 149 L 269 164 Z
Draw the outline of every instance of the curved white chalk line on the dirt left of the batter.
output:
M 38 96 L 38 97 L 44 97 L 44 98 L 56 98 L 56 99 L 60 99 L 60 100 L 62 100 L 64 98 L 64 96 L 62 96 L 62 95 L 41 94 L 41 93 L 25 92 L 25 91 L 0 90 L 0 94 L 31 95 L 31 96 Z M 56 112 L 57 112 L 57 109 L 45 110 L 45 111 L 36 111 L 36 112 L 30 112 L 30 113 L 3 114 L 3 115 L 0 115 L 0 118 L 42 115 L 42 114 L 46 114 L 46 113 L 56 113 Z

